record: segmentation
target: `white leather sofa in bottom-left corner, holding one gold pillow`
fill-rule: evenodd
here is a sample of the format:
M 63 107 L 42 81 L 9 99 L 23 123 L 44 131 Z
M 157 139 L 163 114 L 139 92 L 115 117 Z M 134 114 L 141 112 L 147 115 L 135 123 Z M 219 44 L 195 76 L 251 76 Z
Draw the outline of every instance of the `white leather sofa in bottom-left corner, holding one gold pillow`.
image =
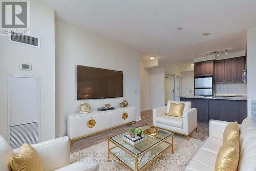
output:
M 87 158 L 82 162 L 70 164 L 69 138 L 60 137 L 32 145 L 39 154 L 45 171 L 85 171 L 99 170 L 94 158 Z M 19 148 L 12 149 L 7 141 L 0 135 L 0 170 L 11 171 L 10 159 L 16 155 Z

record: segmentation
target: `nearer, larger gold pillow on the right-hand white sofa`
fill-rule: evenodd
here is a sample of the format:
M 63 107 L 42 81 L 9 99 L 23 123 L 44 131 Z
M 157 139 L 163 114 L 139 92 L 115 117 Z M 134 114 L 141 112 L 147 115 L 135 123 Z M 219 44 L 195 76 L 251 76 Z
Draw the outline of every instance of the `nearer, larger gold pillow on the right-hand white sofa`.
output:
M 239 162 L 239 141 L 232 138 L 226 141 L 218 153 L 215 171 L 236 171 Z

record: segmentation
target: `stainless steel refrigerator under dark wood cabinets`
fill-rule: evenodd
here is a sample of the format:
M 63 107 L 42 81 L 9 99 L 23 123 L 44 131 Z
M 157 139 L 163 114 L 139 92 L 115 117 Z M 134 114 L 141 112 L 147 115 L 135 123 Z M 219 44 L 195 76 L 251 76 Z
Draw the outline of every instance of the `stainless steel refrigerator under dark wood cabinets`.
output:
M 212 96 L 212 87 L 212 76 L 195 78 L 195 96 Z

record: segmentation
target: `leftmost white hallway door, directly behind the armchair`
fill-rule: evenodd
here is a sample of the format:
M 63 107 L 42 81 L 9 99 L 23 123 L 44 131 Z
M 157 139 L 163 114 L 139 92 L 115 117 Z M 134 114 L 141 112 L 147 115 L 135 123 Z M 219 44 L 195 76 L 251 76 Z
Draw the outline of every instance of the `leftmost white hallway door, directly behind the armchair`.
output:
M 175 76 L 165 75 L 165 104 L 168 100 L 175 100 Z

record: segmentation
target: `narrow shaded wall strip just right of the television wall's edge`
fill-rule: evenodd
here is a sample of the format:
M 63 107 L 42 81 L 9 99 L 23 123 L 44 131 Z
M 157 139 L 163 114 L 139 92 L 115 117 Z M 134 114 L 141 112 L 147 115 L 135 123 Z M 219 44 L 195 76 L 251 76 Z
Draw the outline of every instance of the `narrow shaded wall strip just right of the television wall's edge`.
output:
M 150 69 L 144 69 L 144 62 L 140 62 L 140 82 L 140 110 L 150 110 Z

